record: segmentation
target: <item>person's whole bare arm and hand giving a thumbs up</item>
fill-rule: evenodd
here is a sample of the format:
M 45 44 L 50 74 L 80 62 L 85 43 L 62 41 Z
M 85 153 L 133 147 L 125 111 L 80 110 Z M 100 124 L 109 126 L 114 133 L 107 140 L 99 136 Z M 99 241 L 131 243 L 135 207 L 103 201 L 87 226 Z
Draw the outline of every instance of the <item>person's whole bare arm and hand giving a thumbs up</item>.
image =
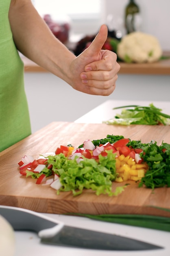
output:
M 76 57 L 54 37 L 31 0 L 11 1 L 9 21 L 17 49 L 75 90 L 107 96 L 115 89 L 120 65 L 114 52 L 102 50 L 107 40 L 106 25 L 100 27 L 92 44 Z

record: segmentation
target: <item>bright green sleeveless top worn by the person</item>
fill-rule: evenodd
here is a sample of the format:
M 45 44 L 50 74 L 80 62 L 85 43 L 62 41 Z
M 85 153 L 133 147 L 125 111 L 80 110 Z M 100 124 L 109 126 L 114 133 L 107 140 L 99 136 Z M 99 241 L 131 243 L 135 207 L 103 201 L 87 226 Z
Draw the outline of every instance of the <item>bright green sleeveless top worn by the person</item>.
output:
M 11 0 L 0 0 L 0 152 L 31 134 L 24 65 L 8 19 Z

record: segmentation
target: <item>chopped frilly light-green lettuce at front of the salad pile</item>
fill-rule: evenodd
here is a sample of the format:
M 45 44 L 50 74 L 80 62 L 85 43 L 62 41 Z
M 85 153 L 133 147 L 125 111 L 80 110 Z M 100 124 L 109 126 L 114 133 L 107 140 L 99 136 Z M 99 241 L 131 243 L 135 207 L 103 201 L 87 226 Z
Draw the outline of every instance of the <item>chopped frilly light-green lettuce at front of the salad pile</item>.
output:
M 52 164 L 52 171 L 60 176 L 63 185 L 59 191 L 72 191 L 73 195 L 79 195 L 83 189 L 92 189 L 96 195 L 118 195 L 125 186 L 112 192 L 112 181 L 116 179 L 116 154 L 109 150 L 107 157 L 99 155 L 99 162 L 95 159 L 87 159 L 77 163 L 76 157 L 68 159 L 62 153 L 48 156 L 48 164 Z M 59 193 L 57 191 L 57 193 Z

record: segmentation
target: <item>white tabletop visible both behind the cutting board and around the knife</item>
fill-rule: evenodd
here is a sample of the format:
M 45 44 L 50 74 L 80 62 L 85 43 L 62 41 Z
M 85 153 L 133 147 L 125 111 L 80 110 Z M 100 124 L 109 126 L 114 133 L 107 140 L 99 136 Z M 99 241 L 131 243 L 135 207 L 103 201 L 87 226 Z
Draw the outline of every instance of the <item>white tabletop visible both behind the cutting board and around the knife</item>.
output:
M 102 123 L 114 117 L 118 110 L 112 110 L 116 106 L 138 104 L 147 106 L 148 101 L 106 101 L 94 110 L 88 112 L 83 117 L 77 119 L 76 123 Z M 170 102 L 153 102 L 156 107 L 162 108 L 163 112 L 170 114 Z M 115 112 L 116 111 L 116 112 Z M 143 240 L 148 243 L 163 246 L 164 249 L 140 252 L 114 252 L 98 251 L 90 249 L 73 249 L 43 245 L 37 234 L 26 231 L 15 231 L 16 253 L 15 256 L 170 256 L 170 232 L 157 231 L 131 227 L 126 225 L 112 224 L 109 222 L 99 222 L 88 218 L 77 216 L 65 216 L 57 214 L 45 214 L 51 218 L 63 221 L 65 225 L 93 229 L 113 234 Z

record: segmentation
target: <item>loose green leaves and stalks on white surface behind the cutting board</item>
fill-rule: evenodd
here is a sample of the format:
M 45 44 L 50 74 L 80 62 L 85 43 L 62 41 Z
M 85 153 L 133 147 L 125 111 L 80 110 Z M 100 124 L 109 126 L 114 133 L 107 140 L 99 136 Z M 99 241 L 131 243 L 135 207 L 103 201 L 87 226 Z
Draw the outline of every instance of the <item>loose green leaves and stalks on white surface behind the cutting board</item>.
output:
M 170 125 L 170 115 L 162 113 L 160 108 L 156 108 L 153 103 L 149 106 L 121 106 L 113 109 L 123 108 L 121 114 L 117 114 L 113 119 L 104 121 L 105 124 L 144 124 L 144 125 Z

